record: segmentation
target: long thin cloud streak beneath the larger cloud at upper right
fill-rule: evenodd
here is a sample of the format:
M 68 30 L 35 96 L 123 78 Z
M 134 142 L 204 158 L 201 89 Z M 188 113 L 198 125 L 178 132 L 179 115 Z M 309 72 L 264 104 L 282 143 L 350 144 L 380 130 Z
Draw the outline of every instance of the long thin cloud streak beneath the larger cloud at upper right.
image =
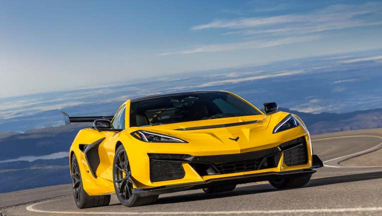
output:
M 279 46 L 290 43 L 311 41 L 320 38 L 317 35 L 307 35 L 307 36 L 295 36 L 295 37 L 286 37 L 274 40 L 249 40 L 244 42 L 235 42 L 235 43 L 218 43 L 210 45 L 197 45 L 188 49 L 163 52 L 159 55 L 170 55 L 170 54 L 190 54 L 197 52 L 218 52 L 218 51 L 230 51 L 236 49 L 247 49 L 247 48 L 265 48 L 271 46 Z

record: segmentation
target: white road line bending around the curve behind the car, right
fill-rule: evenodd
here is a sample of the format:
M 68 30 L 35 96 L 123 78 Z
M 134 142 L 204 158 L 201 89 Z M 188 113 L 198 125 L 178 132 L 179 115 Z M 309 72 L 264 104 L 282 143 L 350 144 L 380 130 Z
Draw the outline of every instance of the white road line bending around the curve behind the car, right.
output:
M 348 135 L 348 136 L 335 136 L 335 137 L 328 137 L 328 138 L 312 139 L 312 141 L 321 141 L 321 140 L 336 139 L 336 138 L 352 138 L 352 137 L 375 137 L 375 138 L 382 139 L 382 136 L 377 136 L 377 135 Z M 362 151 L 358 151 L 358 152 L 355 152 L 355 153 L 347 154 L 347 155 L 344 155 L 344 156 L 336 157 L 336 158 L 333 158 L 333 159 L 325 160 L 325 161 L 323 161 L 323 163 L 324 163 L 324 166 L 326 166 L 326 167 L 334 167 L 334 168 L 373 168 L 373 167 L 375 168 L 375 167 L 382 167 L 382 166 L 335 166 L 335 165 L 327 165 L 327 164 L 325 164 L 325 163 L 333 161 L 333 160 L 338 160 L 338 159 L 345 158 L 345 157 L 351 157 L 351 156 L 356 156 L 356 155 L 359 155 L 359 154 L 367 153 L 367 152 L 375 150 L 375 149 L 377 149 L 379 147 L 382 147 L 382 142 L 380 142 L 379 144 L 377 144 L 377 145 L 375 145 L 375 146 L 373 146 L 371 148 L 368 148 L 366 150 L 362 150 Z M 341 161 L 339 161 L 339 162 L 341 162 Z

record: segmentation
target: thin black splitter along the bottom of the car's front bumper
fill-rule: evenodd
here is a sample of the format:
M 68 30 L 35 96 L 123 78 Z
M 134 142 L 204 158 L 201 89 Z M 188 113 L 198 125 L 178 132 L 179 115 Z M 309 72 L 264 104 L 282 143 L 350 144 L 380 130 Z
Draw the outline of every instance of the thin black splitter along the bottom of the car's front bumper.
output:
M 314 172 L 316 172 L 316 170 L 314 169 L 297 169 L 297 170 L 282 171 L 282 172 L 263 172 L 263 173 L 256 173 L 256 174 L 246 174 L 246 175 L 239 175 L 239 176 L 214 178 L 214 179 L 192 182 L 192 183 L 171 184 L 171 185 L 152 187 L 152 188 L 146 188 L 146 189 L 136 188 L 132 191 L 132 193 L 138 196 L 158 195 L 158 194 L 178 192 L 183 190 L 206 188 L 206 187 L 214 186 L 214 185 L 249 183 L 249 182 L 284 178 L 284 177 L 288 177 L 292 175 L 312 174 Z

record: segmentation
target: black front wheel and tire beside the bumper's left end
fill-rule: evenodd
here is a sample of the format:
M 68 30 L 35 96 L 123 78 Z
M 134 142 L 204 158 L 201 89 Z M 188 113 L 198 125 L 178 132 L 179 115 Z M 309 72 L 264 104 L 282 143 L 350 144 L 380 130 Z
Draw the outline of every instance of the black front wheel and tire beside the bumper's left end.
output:
M 115 151 L 113 161 L 113 182 L 115 194 L 120 203 L 127 207 L 152 204 L 158 199 L 158 195 L 138 196 L 132 194 L 133 182 L 130 165 L 123 145 L 119 145 Z

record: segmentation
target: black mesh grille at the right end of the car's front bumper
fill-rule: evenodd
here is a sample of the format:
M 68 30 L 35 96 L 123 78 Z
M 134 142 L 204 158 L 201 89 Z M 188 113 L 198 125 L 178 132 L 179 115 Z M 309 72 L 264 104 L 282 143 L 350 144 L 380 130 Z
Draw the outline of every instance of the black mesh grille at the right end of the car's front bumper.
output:
M 284 151 L 284 163 L 287 166 L 301 165 L 301 164 L 307 163 L 307 149 L 306 149 L 305 138 L 304 137 L 298 138 L 297 143 L 300 143 L 300 145 L 297 145 L 295 147 L 289 148 L 288 150 Z

